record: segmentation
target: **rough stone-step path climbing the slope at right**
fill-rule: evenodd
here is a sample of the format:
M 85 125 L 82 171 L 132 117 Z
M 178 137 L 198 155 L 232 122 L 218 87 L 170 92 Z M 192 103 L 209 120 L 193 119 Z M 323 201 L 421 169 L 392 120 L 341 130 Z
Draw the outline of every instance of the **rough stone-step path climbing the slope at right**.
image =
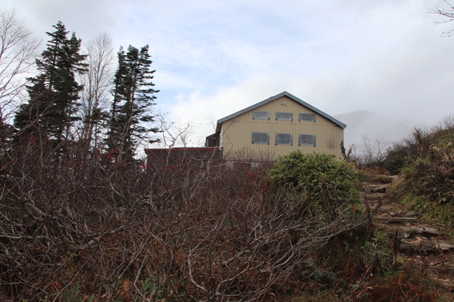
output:
M 438 285 L 454 290 L 454 243 L 436 226 L 420 221 L 419 213 L 391 202 L 386 195 L 389 186 L 365 183 L 363 199 L 371 209 L 374 226 L 384 229 L 393 238 L 398 259 L 413 261 Z

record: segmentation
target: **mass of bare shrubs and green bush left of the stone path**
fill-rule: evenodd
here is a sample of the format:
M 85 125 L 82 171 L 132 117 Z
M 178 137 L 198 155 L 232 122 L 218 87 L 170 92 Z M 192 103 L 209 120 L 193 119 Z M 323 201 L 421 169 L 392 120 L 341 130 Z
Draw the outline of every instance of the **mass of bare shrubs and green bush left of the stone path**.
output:
M 329 155 L 295 152 L 274 167 L 172 156 L 144 167 L 67 148 L 41 168 L 33 143 L 22 147 L 2 157 L 3 300 L 441 297 L 420 267 L 394 262 L 392 239 L 358 202 L 358 173 Z

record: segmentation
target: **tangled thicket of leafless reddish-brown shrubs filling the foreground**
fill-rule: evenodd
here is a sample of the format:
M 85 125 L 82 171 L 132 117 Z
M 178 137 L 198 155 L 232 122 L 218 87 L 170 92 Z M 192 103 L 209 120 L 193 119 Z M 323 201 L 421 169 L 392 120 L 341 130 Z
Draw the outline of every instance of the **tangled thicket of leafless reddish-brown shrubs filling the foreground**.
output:
M 321 227 L 308 200 L 271 191 L 267 165 L 182 156 L 145 168 L 83 156 L 76 144 L 41 165 L 36 143 L 0 154 L 7 301 L 262 301 L 364 219 L 339 215 Z

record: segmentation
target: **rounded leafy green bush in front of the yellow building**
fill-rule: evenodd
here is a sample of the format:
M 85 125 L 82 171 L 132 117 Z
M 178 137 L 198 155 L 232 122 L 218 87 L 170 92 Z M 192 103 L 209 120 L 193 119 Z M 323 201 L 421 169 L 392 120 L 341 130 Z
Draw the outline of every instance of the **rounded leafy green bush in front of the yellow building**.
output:
M 358 173 L 346 161 L 329 154 L 302 154 L 299 150 L 279 157 L 268 180 L 282 202 L 301 202 L 301 213 L 324 228 L 334 220 L 347 224 L 365 213 L 358 192 Z M 313 230 L 307 230 L 313 231 Z

